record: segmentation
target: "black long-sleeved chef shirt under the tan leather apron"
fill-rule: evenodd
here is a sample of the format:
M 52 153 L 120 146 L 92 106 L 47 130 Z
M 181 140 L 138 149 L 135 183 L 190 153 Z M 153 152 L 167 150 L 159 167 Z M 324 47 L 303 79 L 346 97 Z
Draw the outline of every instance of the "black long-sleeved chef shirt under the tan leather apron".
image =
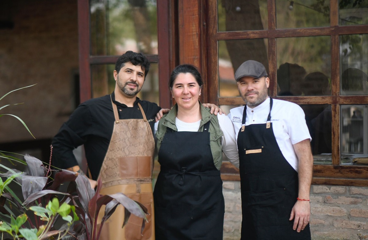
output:
M 127 107 L 115 101 L 114 93 L 111 96 L 117 105 L 119 119 L 143 119 L 137 105 L 141 104 L 154 133 L 155 116 L 161 109 L 156 103 L 142 101 L 137 97 L 134 106 Z M 53 165 L 62 169 L 78 165 L 72 151 L 84 144 L 88 168 L 92 179 L 96 180 L 109 147 L 114 122 L 110 95 L 93 98 L 80 104 L 52 140 Z

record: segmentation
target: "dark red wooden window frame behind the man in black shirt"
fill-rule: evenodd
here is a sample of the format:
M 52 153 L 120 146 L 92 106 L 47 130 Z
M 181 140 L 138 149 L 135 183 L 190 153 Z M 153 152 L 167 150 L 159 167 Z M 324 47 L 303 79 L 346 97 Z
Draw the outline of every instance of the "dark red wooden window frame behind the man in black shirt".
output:
M 157 1 L 157 21 L 158 21 L 158 51 L 159 54 L 146 54 L 149 62 L 159 65 L 159 88 L 167 89 L 170 71 L 176 63 L 174 43 L 172 35 L 175 32 L 175 25 L 171 19 L 175 19 L 173 0 Z M 79 84 L 81 103 L 92 97 L 91 86 L 91 66 L 96 64 L 115 64 L 118 55 L 114 56 L 93 56 L 91 55 L 90 37 L 90 14 L 89 0 L 78 0 L 78 34 L 79 34 Z M 170 108 L 171 97 L 169 91 L 159 92 L 159 105 L 162 108 Z

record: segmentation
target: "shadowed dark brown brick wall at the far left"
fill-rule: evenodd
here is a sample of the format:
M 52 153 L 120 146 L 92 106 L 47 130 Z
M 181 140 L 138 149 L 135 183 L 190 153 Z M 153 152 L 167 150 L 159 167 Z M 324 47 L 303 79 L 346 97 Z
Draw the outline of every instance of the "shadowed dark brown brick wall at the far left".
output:
M 78 72 L 77 0 L 0 1 L 0 112 L 22 118 L 36 139 L 52 138 L 74 110 Z M 32 140 L 15 118 L 0 119 L 0 143 Z M 3 150 L 3 149 L 2 149 Z

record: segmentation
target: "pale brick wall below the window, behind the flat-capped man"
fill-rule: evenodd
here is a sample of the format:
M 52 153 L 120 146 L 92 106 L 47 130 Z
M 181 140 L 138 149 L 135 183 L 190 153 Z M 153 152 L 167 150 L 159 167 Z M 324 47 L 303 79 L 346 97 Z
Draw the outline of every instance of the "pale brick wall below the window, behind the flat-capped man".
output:
M 224 240 L 239 240 L 240 182 L 224 181 Z M 312 240 L 367 240 L 368 187 L 311 187 Z

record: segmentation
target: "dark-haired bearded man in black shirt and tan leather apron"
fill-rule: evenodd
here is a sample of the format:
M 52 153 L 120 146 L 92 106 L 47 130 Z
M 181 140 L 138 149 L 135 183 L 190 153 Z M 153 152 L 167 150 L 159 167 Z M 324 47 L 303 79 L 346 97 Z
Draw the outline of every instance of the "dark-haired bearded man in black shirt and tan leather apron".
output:
M 121 228 L 124 208 L 119 205 L 103 225 L 101 240 L 155 239 L 153 132 L 161 108 L 137 97 L 148 70 L 149 61 L 142 53 L 127 51 L 121 55 L 113 73 L 114 92 L 80 104 L 52 141 L 54 166 L 84 174 L 72 152 L 84 144 L 91 187 L 95 188 L 96 180 L 101 179 L 101 194 L 121 192 L 148 209 L 148 223 L 141 235 L 142 219 L 135 215 Z M 218 110 L 212 109 L 215 114 Z

